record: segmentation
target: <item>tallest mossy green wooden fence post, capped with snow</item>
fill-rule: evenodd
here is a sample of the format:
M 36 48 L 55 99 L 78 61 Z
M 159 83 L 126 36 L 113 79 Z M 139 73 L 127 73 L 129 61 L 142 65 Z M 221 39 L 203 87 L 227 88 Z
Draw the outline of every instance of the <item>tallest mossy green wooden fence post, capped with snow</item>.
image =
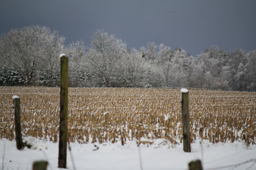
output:
M 59 168 L 66 168 L 67 154 L 67 107 L 68 107 L 68 58 L 60 54 L 61 89 L 60 89 L 60 133 L 59 133 Z

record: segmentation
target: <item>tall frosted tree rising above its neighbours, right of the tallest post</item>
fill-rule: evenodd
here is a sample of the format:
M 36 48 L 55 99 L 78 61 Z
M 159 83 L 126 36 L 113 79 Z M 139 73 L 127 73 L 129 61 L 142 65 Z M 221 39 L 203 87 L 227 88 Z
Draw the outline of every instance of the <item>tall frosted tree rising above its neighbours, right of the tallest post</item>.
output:
M 119 60 L 126 54 L 126 43 L 115 35 L 97 30 L 86 53 L 86 69 L 96 86 L 111 87 L 119 79 Z

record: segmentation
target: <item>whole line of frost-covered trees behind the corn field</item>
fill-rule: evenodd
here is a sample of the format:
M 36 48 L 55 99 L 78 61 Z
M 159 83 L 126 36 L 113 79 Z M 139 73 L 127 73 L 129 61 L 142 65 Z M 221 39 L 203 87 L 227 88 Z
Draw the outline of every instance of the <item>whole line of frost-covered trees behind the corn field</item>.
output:
M 90 47 L 64 45 L 45 26 L 12 29 L 0 35 L 0 86 L 59 86 L 59 54 L 69 59 L 70 87 L 168 87 L 256 91 L 256 50 L 231 53 L 211 46 L 197 57 L 164 44 L 127 49 L 97 30 Z

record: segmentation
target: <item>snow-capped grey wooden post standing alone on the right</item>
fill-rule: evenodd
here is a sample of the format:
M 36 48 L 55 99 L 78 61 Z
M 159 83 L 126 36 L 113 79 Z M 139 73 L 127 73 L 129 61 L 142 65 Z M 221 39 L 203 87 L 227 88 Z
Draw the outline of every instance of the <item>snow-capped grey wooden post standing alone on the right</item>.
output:
M 190 149 L 190 121 L 189 121 L 189 91 L 185 88 L 181 92 L 181 112 L 183 124 L 183 150 L 191 152 Z

